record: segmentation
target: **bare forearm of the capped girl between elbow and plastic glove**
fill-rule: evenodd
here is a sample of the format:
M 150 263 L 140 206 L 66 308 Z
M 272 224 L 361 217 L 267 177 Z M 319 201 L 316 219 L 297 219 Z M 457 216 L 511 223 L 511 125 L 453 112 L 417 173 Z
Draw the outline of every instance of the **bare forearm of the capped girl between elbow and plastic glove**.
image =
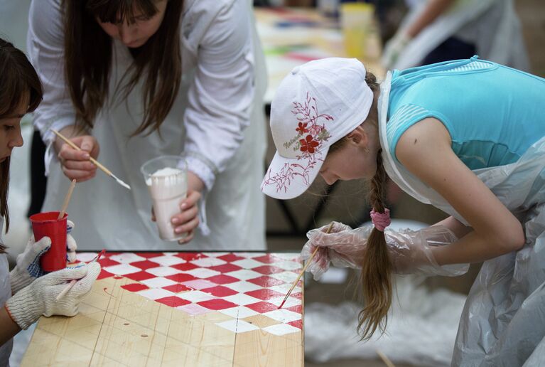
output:
M 514 248 L 504 245 L 502 240 L 484 238 L 472 231 L 454 243 L 433 247 L 431 250 L 439 265 L 449 265 L 490 260 Z

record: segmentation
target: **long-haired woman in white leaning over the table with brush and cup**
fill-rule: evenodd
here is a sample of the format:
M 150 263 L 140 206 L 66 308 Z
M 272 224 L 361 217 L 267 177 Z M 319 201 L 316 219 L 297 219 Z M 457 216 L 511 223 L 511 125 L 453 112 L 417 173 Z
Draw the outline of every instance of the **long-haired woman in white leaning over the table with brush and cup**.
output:
M 180 249 L 158 239 L 140 174 L 166 154 L 188 163 L 172 218 L 184 249 L 264 248 L 264 75 L 249 1 L 33 1 L 28 50 L 44 85 L 44 208 L 59 207 L 64 176 L 85 181 L 70 207 L 87 223 L 82 248 Z M 90 156 L 132 190 L 96 174 Z

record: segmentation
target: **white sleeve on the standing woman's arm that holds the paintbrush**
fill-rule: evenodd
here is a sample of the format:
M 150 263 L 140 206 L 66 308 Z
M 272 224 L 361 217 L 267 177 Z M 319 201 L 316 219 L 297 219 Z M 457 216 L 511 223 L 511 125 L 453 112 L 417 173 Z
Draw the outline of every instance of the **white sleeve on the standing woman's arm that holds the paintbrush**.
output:
M 43 101 L 34 112 L 34 127 L 47 146 L 45 175 L 56 160 L 55 130 L 75 124 L 75 110 L 65 84 L 63 16 L 60 0 L 33 0 L 28 12 L 28 57 L 43 85 Z

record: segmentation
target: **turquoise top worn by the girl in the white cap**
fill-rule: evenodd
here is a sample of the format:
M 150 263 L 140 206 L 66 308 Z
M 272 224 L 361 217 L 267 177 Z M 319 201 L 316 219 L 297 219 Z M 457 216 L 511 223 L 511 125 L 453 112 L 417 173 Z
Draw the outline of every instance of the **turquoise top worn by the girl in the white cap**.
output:
M 401 134 L 426 117 L 445 125 L 470 169 L 513 163 L 545 137 L 545 79 L 476 56 L 394 70 L 387 139 L 395 159 Z

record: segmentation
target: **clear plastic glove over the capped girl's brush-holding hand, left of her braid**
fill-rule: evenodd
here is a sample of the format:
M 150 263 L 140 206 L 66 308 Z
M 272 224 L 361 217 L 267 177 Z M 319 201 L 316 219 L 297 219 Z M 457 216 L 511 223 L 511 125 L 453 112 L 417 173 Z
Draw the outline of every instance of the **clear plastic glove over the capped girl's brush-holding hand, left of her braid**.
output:
M 315 280 L 319 280 L 328 271 L 330 264 L 336 267 L 359 267 L 362 250 L 373 229 L 373 225 L 352 229 L 348 225 L 333 222 L 330 233 L 325 233 L 329 226 L 309 230 L 306 234 L 308 241 L 301 250 L 301 257 L 307 260 L 317 246 L 320 248 L 307 267 Z

